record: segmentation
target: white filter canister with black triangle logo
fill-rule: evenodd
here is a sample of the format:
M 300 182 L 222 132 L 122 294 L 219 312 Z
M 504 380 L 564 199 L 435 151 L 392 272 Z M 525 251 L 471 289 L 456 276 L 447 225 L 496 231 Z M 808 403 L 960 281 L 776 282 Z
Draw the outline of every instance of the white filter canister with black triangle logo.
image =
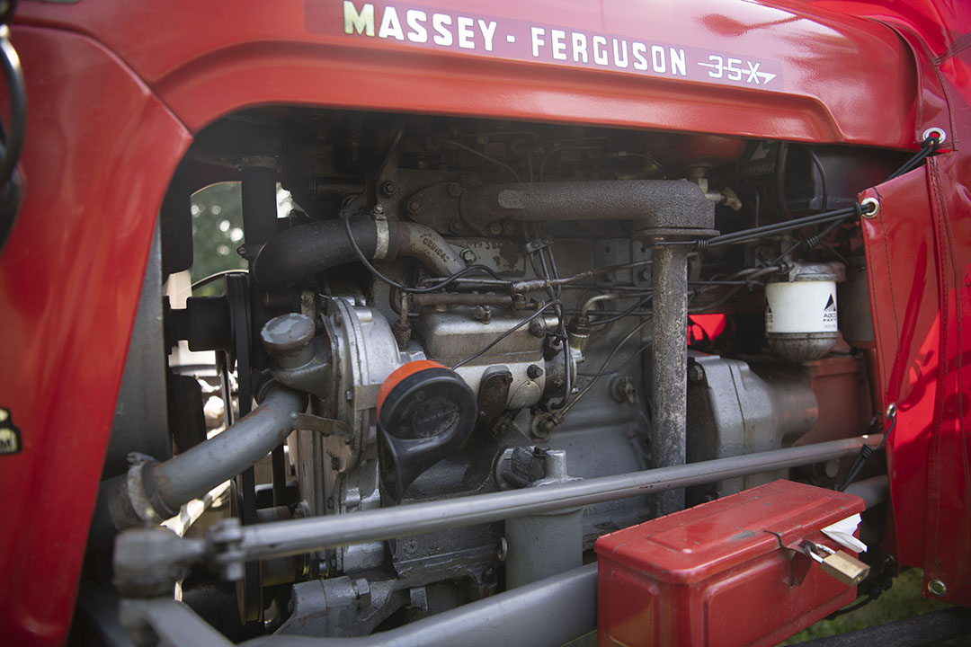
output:
M 840 263 L 794 263 L 765 285 L 765 336 L 773 354 L 793 362 L 819 359 L 836 343 Z

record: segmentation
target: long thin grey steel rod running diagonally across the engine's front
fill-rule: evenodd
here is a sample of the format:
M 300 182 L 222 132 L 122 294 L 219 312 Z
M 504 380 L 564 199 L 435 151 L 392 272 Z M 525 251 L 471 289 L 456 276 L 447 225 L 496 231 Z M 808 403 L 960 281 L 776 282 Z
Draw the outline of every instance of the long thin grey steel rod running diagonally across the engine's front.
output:
M 279 555 L 296 555 L 330 546 L 433 533 L 537 512 L 701 485 L 772 469 L 796 468 L 855 456 L 862 444 L 876 446 L 881 438 L 882 436 L 846 438 L 542 488 L 248 526 L 239 529 L 240 541 L 234 546 L 233 559 L 260 560 Z M 234 520 L 221 523 L 232 525 Z M 233 534 L 236 534 L 235 531 Z

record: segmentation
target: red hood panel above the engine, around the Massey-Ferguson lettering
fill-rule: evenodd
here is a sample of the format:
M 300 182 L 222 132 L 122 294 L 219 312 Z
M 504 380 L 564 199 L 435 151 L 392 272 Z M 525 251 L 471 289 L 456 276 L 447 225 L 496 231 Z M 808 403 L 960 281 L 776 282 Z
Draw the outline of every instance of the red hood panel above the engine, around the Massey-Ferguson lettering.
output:
M 375 5 L 379 32 L 385 4 Z M 875 22 L 743 0 L 654 8 L 634 0 L 389 4 L 402 23 L 412 7 L 452 20 L 494 20 L 496 46 L 486 52 L 480 38 L 478 49 L 458 49 L 454 22 L 449 47 L 348 35 L 338 0 L 25 3 L 19 19 L 94 34 L 192 130 L 242 106 L 298 103 L 916 146 L 914 62 L 899 38 Z M 363 6 L 356 2 L 355 11 Z M 774 61 L 785 90 L 645 76 L 632 64 L 573 67 L 572 58 L 553 61 L 549 45 L 533 57 L 522 25 L 543 28 L 548 44 L 552 29 L 561 27 L 567 37 L 578 30 L 589 39 L 601 34 L 725 60 Z M 506 35 L 516 34 L 521 48 L 500 49 Z M 710 69 L 699 67 L 705 60 L 687 62 L 695 71 Z

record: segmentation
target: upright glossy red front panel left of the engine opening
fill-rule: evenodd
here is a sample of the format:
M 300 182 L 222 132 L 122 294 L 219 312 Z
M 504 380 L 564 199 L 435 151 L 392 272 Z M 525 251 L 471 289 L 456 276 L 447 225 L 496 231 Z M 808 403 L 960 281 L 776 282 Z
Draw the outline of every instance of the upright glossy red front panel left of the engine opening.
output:
M 52 645 L 71 619 L 156 213 L 189 135 L 90 39 L 17 27 L 13 41 L 27 190 L 0 256 L 0 405 L 23 449 L 0 456 L 0 627 L 6 644 Z

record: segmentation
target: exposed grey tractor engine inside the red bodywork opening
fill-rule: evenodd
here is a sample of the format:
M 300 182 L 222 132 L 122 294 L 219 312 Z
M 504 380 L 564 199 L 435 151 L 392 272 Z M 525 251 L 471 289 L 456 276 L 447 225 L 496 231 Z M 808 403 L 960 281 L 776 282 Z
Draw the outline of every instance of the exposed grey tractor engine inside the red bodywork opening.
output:
M 129 440 L 125 451 L 151 459 L 106 481 L 104 526 L 176 515 L 203 493 L 171 483 L 207 472 L 208 490 L 270 450 L 262 476 L 233 479 L 244 528 L 858 436 L 874 412 L 874 346 L 850 216 L 856 192 L 899 162 L 448 116 L 266 108 L 221 119 L 173 180 L 162 272 L 172 280 L 191 263 L 173 251 L 190 237 L 188 195 L 242 179 L 249 274 L 219 277 L 221 296 L 167 304 L 167 348 L 217 360 L 199 371 L 173 354 L 161 414 L 194 421 L 173 466 L 227 444 L 162 479 L 167 457 Z M 278 181 L 297 206 L 282 218 Z M 200 381 L 225 402 L 225 431 L 208 440 Z M 230 445 L 261 412 L 276 416 L 277 436 Z M 237 459 L 244 449 L 254 454 Z M 205 577 L 184 581 L 184 599 L 229 635 L 253 623 L 364 635 L 581 566 L 602 534 L 689 505 L 779 477 L 833 487 L 851 461 L 434 532 L 389 527 L 250 561 L 223 591 L 238 619 L 193 595 Z

